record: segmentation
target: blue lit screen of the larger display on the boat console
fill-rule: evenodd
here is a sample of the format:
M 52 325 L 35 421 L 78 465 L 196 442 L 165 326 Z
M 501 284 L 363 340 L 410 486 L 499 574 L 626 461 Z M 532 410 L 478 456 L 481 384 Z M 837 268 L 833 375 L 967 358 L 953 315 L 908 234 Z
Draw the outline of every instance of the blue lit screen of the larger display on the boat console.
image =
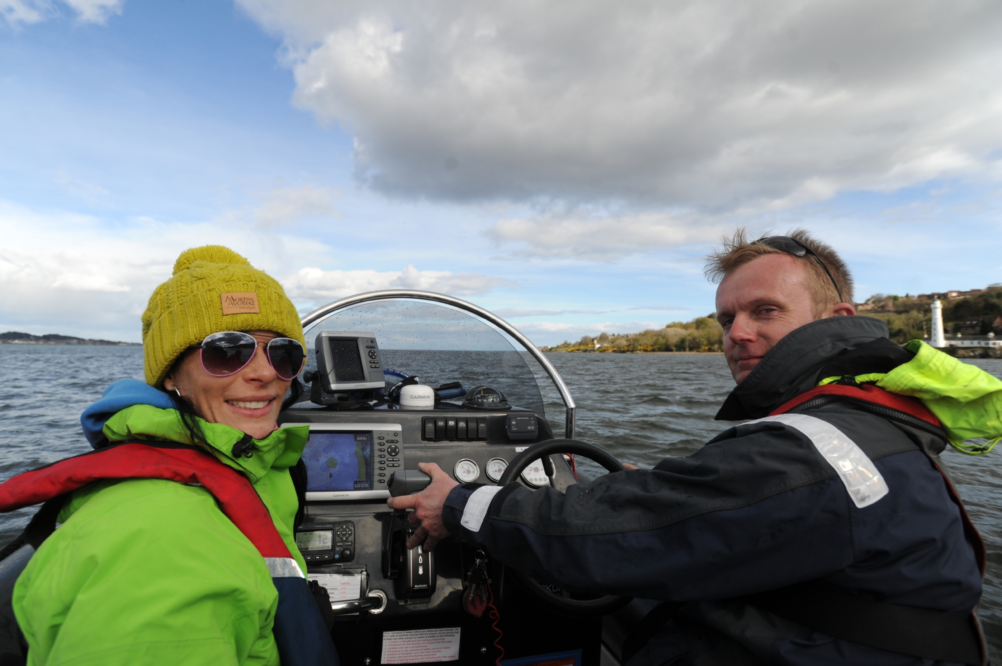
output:
M 310 433 L 303 452 L 308 491 L 370 491 L 371 433 Z

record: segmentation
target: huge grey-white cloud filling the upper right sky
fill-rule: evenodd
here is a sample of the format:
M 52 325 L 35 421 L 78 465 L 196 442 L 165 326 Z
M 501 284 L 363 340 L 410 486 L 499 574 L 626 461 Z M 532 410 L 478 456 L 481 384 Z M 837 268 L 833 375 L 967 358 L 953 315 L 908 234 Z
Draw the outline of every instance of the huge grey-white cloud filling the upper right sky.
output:
M 727 211 L 999 173 L 995 0 L 236 1 L 389 193 Z

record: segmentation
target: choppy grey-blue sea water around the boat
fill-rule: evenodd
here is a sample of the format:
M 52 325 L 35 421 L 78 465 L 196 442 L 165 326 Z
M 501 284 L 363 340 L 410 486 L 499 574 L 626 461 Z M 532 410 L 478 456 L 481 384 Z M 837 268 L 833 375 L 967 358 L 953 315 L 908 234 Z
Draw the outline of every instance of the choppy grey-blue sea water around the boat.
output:
M 713 421 L 733 388 L 720 355 L 547 358 L 577 402 L 575 437 L 623 462 L 651 467 L 665 456 L 686 456 L 730 425 Z M 1002 377 L 1002 361 L 970 363 Z M 90 451 L 80 431 L 80 413 L 109 384 L 128 377 L 142 379 L 140 347 L 0 345 L 0 481 Z M 465 384 L 467 378 L 462 379 Z M 563 405 L 552 386 L 542 384 L 542 389 L 546 415 L 559 437 Z M 988 545 L 981 617 L 993 652 L 1002 653 L 1002 521 L 997 511 L 1002 506 L 1002 451 L 968 457 L 948 450 L 943 459 Z M 0 515 L 0 546 L 24 528 L 34 511 Z

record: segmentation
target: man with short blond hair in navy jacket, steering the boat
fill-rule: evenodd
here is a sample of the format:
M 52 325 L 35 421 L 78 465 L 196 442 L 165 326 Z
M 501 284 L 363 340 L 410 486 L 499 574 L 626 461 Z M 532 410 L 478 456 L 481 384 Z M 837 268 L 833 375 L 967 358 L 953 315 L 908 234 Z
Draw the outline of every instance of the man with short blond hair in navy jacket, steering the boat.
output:
M 390 500 L 415 510 L 409 545 L 458 534 L 565 589 L 663 601 L 629 666 L 983 663 L 984 546 L 939 459 L 947 436 L 871 381 L 912 348 L 855 315 L 846 264 L 806 231 L 739 230 L 706 274 L 737 384 L 716 418 L 748 423 L 566 494 L 422 465 L 432 484 Z

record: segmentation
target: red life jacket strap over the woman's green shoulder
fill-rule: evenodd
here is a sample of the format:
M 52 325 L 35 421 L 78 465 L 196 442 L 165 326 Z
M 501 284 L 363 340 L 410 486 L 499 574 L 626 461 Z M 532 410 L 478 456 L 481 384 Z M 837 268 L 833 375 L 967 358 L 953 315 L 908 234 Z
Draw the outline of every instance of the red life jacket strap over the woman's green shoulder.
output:
M 292 557 L 246 477 L 207 453 L 186 447 L 121 444 L 19 474 L 0 484 L 0 512 L 40 504 L 102 479 L 201 484 L 262 557 Z

